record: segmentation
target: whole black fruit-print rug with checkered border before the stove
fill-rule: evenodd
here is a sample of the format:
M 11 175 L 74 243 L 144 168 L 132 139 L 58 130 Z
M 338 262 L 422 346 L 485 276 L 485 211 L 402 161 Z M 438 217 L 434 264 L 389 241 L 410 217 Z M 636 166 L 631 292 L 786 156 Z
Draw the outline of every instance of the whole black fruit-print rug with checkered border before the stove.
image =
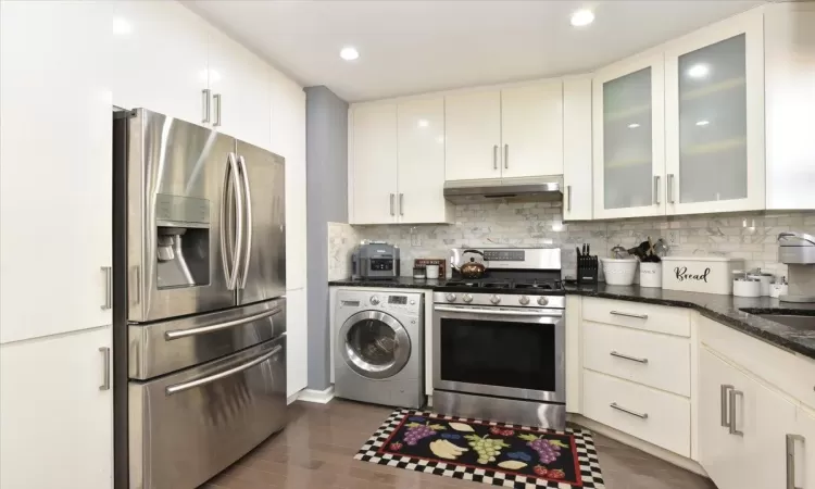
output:
M 394 411 L 354 456 L 517 489 L 604 489 L 591 434 Z

